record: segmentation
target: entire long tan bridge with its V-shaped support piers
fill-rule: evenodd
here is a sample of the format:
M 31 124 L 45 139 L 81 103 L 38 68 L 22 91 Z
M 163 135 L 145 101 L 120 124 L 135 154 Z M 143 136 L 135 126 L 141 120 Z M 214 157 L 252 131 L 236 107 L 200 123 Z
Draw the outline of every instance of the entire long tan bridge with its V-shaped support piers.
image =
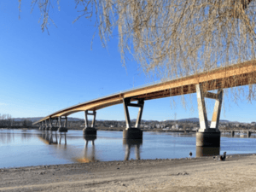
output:
M 223 100 L 223 89 L 256 83 L 256 61 L 245 61 L 228 67 L 218 67 L 214 70 L 189 75 L 187 77 L 167 80 L 158 84 L 149 84 L 137 89 L 120 91 L 119 93 L 104 96 L 64 108 L 51 113 L 43 119 L 33 123 L 40 124 L 41 130 L 67 131 L 67 116 L 72 113 L 84 111 L 84 134 L 96 135 L 95 121 L 96 111 L 102 108 L 121 104 L 124 105 L 126 129 L 123 131 L 124 138 L 143 137 L 143 131 L 139 125 L 143 115 L 144 102 L 147 100 L 163 98 L 167 96 L 180 96 L 195 93 L 197 94 L 200 129 L 196 133 L 196 146 L 220 146 L 220 132 L 218 122 Z M 218 93 L 209 92 L 218 90 Z M 211 125 L 208 125 L 205 98 L 216 100 L 212 114 Z M 131 120 L 128 107 L 139 108 L 135 127 L 131 127 Z M 88 115 L 92 115 L 92 123 L 89 125 Z M 64 124 L 62 120 L 64 119 Z

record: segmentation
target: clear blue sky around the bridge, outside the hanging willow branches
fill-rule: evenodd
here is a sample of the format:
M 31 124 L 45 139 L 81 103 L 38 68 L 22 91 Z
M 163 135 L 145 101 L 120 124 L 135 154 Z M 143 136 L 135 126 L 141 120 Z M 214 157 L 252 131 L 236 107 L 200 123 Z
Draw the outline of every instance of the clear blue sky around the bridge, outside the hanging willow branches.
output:
M 105 49 L 94 22 L 81 18 L 73 24 L 79 15 L 73 1 L 61 1 L 61 10 L 51 11 L 56 26 L 49 26 L 49 34 L 41 31 L 40 13 L 37 8 L 31 13 L 30 2 L 22 1 L 19 20 L 18 0 L 0 1 L 0 113 L 14 118 L 43 117 L 79 102 L 153 82 L 135 61 L 128 61 L 126 69 L 122 67 L 118 37 L 113 37 Z M 188 96 L 186 109 L 178 97 L 175 105 L 170 98 L 145 102 L 143 119 L 175 119 L 175 113 L 176 119 L 197 118 L 195 94 L 191 100 Z M 225 96 L 220 119 L 256 121 L 255 106 L 256 102 L 249 104 L 242 96 L 238 105 Z M 211 116 L 208 113 L 208 119 Z M 84 113 L 72 117 L 84 118 Z M 131 119 L 136 117 L 137 109 L 132 109 Z M 124 120 L 124 108 L 104 108 L 97 111 L 96 119 Z

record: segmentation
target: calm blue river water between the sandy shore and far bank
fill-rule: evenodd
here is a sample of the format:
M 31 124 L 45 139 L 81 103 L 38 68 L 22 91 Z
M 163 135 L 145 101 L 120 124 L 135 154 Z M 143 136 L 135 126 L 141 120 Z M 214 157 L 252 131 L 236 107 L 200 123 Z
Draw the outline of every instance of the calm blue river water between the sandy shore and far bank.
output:
M 202 151 L 195 147 L 195 134 L 143 132 L 143 141 L 128 143 L 122 137 L 122 131 L 97 131 L 96 139 L 88 140 L 83 137 L 82 131 L 68 131 L 66 136 L 60 137 L 59 133 L 46 134 L 45 131 L 0 129 L 0 168 L 91 160 L 184 158 L 189 156 L 189 151 L 192 151 L 193 157 Z M 217 153 L 256 153 L 255 146 L 253 135 L 250 138 L 222 136 L 221 148 L 217 149 Z M 207 153 L 206 148 L 203 153 Z M 209 153 L 216 153 L 216 148 L 210 148 Z

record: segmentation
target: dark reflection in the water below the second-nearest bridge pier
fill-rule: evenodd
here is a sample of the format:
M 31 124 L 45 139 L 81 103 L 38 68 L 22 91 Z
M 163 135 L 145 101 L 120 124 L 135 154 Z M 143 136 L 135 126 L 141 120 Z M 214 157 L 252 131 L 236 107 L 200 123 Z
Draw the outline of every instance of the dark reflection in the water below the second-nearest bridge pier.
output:
M 137 160 L 141 159 L 140 146 L 143 144 L 143 139 L 123 139 L 125 146 L 125 160 L 129 160 L 131 148 L 135 148 L 135 156 Z

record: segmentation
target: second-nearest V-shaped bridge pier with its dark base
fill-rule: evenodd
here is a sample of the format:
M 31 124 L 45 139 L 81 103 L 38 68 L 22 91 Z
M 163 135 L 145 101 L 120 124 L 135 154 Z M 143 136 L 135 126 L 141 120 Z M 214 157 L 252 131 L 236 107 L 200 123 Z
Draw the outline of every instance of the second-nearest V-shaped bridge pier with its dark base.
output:
M 144 100 L 138 99 L 137 103 L 131 103 L 131 98 L 125 98 L 123 100 L 123 104 L 125 109 L 125 121 L 126 121 L 126 129 L 123 131 L 123 138 L 124 139 L 143 139 L 143 131 L 141 131 L 139 127 L 140 127 L 142 116 L 143 116 Z M 130 119 L 128 107 L 139 108 L 135 127 L 131 127 L 131 119 Z

